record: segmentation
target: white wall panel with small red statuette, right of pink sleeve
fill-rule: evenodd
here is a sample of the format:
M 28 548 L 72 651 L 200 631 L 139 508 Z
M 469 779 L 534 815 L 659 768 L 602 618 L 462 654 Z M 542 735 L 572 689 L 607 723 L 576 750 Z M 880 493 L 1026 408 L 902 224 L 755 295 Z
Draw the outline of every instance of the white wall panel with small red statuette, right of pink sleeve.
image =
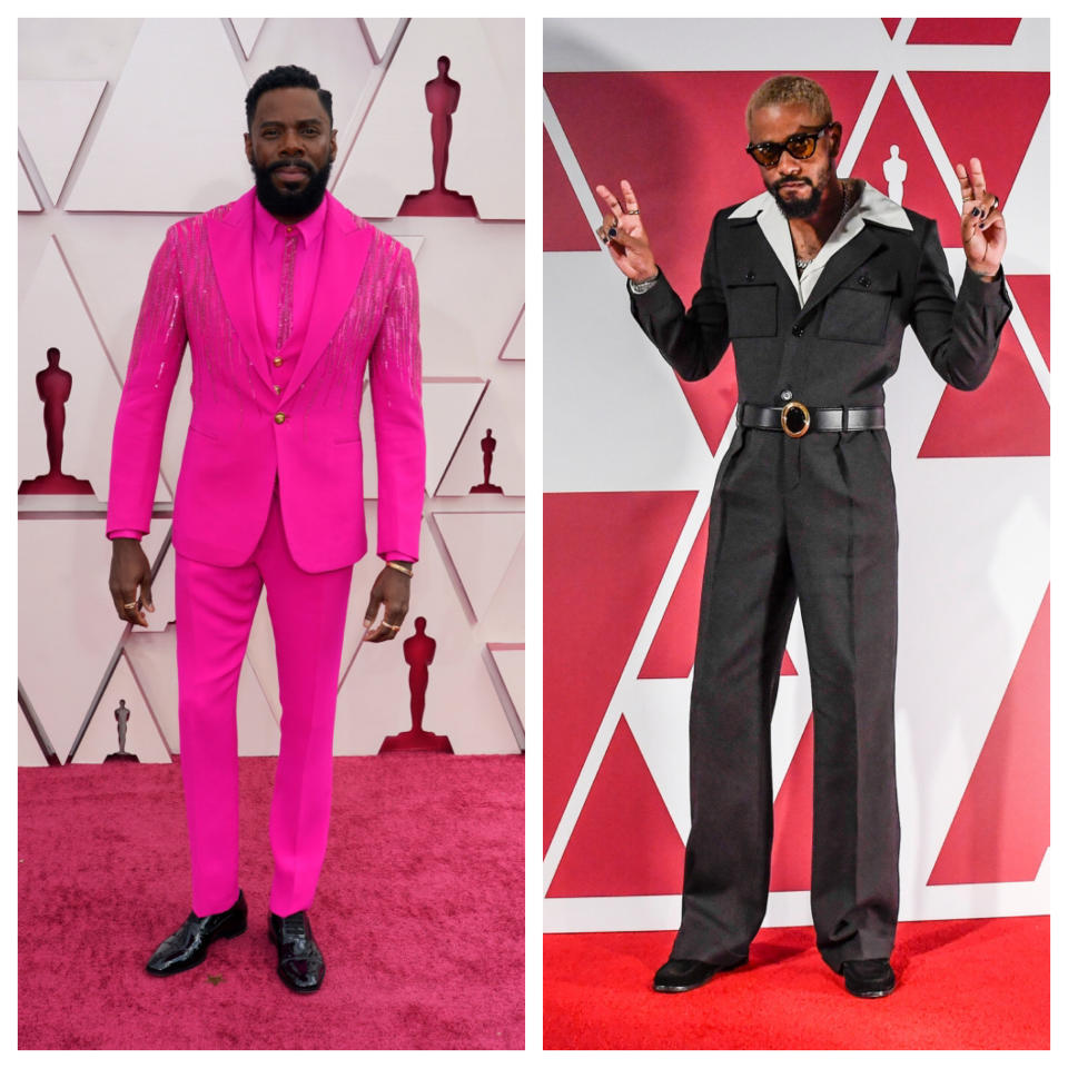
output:
M 486 431 L 492 431 L 496 444 L 490 465 L 490 483 L 500 486 L 505 496 L 523 496 L 526 477 L 524 414 L 524 365 L 517 362 L 498 364 L 497 376 L 486 386 L 478 411 L 437 487 L 437 495 L 466 496 L 472 486 L 483 483 L 482 443 Z

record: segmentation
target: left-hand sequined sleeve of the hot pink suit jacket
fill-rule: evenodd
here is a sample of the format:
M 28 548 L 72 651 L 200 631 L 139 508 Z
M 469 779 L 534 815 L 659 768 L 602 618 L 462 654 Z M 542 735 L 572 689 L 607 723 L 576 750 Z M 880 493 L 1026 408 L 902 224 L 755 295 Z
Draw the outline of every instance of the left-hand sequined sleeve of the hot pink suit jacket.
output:
M 129 531 L 148 533 L 167 409 L 185 348 L 178 241 L 171 228 L 149 271 L 115 419 L 108 492 L 109 535 Z

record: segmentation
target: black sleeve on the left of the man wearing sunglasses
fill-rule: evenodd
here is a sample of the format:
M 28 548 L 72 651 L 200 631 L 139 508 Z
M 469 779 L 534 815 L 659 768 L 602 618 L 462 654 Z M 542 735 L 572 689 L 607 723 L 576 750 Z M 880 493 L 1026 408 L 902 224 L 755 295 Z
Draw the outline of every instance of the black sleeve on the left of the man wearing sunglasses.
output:
M 689 312 L 663 271 L 647 293 L 631 294 L 631 314 L 639 326 L 679 377 L 688 382 L 711 374 L 730 343 L 726 301 L 716 264 L 716 222 L 712 225 L 701 264 L 701 288 Z

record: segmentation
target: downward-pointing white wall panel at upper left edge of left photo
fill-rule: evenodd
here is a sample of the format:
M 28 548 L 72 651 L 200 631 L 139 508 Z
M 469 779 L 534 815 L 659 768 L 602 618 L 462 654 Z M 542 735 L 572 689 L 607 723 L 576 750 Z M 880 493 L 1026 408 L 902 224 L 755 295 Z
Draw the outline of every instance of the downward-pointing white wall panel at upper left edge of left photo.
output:
M 59 204 L 106 86 L 106 81 L 19 81 L 19 132 L 52 204 Z

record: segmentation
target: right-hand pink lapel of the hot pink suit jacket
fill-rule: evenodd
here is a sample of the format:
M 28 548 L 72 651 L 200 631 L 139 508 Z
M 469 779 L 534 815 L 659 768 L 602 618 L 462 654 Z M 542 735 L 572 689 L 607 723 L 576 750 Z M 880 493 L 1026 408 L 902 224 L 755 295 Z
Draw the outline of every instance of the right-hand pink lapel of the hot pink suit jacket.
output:
M 326 224 L 323 228 L 319 274 L 312 298 L 312 318 L 283 403 L 300 388 L 337 332 L 342 316 L 353 303 L 374 236 L 373 227 L 367 224 L 360 226 L 347 208 L 330 194 L 326 196 Z

